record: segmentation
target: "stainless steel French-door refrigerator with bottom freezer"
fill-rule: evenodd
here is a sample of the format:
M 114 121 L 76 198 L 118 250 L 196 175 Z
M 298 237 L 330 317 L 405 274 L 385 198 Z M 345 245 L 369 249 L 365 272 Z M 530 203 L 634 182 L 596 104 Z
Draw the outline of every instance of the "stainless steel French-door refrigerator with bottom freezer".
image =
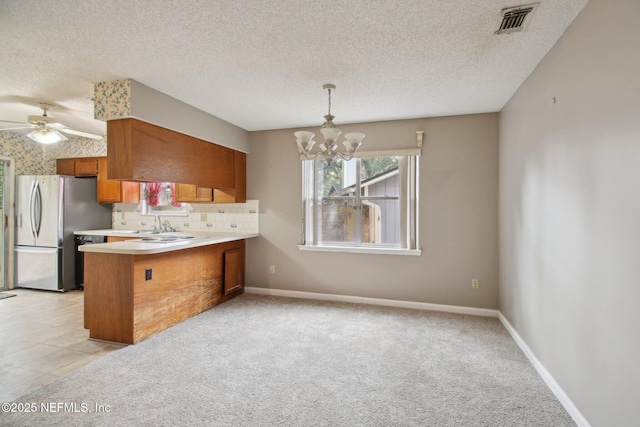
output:
M 111 205 L 96 202 L 96 179 L 16 177 L 15 286 L 76 287 L 73 232 L 111 228 Z

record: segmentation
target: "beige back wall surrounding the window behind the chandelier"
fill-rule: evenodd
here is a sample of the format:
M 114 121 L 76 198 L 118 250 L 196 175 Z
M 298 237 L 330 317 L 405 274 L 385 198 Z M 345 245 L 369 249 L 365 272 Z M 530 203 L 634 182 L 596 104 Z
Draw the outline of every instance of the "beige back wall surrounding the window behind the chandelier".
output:
M 422 255 L 301 252 L 301 164 L 294 129 L 253 132 L 248 198 L 260 234 L 248 242 L 247 285 L 457 306 L 498 307 L 497 114 L 339 126 L 363 150 L 413 148 L 420 161 Z M 320 135 L 318 129 L 316 134 Z M 276 274 L 269 274 L 269 266 Z M 480 279 L 480 290 L 471 279 Z

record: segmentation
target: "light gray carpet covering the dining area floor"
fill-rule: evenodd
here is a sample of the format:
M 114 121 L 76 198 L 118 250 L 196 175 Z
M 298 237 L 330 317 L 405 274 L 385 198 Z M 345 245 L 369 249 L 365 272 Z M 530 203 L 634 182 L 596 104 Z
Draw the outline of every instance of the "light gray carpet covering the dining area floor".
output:
M 0 424 L 575 425 L 495 318 L 246 294 L 15 402 L 80 412 Z

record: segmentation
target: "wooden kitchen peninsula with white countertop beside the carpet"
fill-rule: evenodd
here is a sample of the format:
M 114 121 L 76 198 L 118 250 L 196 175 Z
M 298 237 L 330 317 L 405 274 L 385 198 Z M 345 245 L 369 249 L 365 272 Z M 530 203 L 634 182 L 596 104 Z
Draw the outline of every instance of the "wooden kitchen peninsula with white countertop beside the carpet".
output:
M 135 344 L 244 291 L 245 239 L 258 234 L 136 233 L 79 248 L 90 338 Z

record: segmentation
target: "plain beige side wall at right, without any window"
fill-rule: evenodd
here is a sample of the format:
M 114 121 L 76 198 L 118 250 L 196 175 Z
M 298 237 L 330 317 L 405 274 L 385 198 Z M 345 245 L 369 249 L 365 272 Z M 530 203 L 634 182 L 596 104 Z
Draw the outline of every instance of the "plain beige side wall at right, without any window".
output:
M 591 0 L 500 114 L 500 310 L 593 426 L 640 420 L 638 17 Z

